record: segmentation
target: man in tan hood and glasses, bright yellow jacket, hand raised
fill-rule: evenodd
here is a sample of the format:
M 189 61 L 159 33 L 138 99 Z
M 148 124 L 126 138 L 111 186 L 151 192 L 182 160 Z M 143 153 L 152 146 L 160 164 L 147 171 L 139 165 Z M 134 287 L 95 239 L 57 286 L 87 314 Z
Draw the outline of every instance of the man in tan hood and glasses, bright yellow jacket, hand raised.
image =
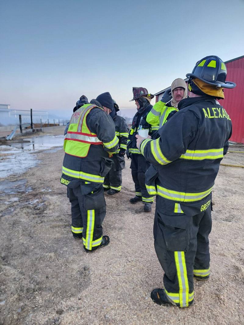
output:
M 183 98 L 187 98 L 187 86 L 183 79 L 177 78 L 172 82 L 170 89 L 164 92 L 162 99 L 156 102 L 147 114 L 146 121 L 153 125 L 153 130 L 157 131 L 178 111 L 178 103 Z M 156 132 L 152 138 L 157 137 Z

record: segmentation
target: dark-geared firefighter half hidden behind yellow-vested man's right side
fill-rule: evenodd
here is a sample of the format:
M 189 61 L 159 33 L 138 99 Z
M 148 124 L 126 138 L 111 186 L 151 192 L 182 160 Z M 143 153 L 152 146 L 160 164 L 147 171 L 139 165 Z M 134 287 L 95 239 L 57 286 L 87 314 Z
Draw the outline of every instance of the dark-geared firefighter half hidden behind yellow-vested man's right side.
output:
M 114 108 L 110 111 L 109 115 L 115 123 L 115 135 L 119 139 L 119 148 L 113 154 L 112 168 L 104 178 L 103 190 L 107 191 L 109 195 L 118 193 L 122 185 L 122 169 L 125 168 L 125 151 L 127 148 L 127 139 L 129 135 L 129 128 L 126 120 L 122 116 L 117 115 L 119 111 L 118 104 L 114 101 Z

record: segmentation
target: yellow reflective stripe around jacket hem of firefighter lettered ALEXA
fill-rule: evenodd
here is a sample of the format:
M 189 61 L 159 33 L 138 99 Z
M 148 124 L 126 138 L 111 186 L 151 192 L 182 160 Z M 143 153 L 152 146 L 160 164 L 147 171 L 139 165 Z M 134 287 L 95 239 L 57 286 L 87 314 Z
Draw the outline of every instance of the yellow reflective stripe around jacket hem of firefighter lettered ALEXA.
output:
M 180 202 L 191 202 L 191 201 L 199 201 L 205 198 L 205 196 L 211 193 L 212 188 L 213 187 L 209 188 L 204 192 L 185 193 L 185 192 L 174 191 L 157 185 L 157 194 L 169 200 L 180 201 Z

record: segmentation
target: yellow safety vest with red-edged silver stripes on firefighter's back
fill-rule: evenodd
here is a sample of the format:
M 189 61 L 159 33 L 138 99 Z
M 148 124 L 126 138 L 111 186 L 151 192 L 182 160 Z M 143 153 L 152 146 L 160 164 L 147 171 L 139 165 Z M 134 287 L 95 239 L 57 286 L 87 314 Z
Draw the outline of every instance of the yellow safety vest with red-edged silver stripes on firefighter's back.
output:
M 87 126 L 87 115 L 94 107 L 98 106 L 85 104 L 71 116 L 63 144 L 63 149 L 67 154 L 83 158 L 88 155 L 91 144 L 102 145 L 102 141 Z

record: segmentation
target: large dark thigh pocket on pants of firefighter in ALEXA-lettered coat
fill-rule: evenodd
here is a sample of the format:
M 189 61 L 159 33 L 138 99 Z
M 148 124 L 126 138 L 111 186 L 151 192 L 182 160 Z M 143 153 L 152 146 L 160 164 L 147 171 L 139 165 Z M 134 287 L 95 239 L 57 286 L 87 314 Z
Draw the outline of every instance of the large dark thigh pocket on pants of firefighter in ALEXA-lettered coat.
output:
M 158 246 L 171 252 L 187 252 L 190 243 L 192 218 L 187 215 L 157 215 Z

